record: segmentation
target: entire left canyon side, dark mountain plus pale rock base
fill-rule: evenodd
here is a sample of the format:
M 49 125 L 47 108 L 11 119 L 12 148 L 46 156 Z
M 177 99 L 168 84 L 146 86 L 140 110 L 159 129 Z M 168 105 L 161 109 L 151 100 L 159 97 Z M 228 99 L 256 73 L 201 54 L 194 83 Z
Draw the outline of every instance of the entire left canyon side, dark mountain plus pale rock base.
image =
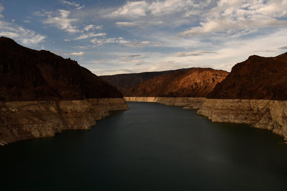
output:
M 88 129 L 122 93 L 76 61 L 0 37 L 0 144 Z

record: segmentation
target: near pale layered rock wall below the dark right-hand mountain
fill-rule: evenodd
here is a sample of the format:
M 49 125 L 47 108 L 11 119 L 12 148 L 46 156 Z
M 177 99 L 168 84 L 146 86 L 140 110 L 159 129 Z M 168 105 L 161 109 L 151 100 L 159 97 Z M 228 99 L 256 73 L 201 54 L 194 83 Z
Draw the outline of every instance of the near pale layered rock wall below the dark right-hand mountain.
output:
M 246 123 L 272 130 L 287 140 L 287 101 L 206 99 L 197 113 L 214 122 Z

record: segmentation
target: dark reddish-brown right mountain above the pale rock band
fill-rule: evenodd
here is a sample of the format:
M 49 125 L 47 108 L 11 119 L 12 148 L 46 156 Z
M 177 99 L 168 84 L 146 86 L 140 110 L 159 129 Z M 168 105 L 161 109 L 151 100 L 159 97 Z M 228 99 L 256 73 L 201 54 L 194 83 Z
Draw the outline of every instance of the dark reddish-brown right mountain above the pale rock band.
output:
M 268 58 L 250 56 L 233 66 L 207 98 L 287 101 L 287 53 Z

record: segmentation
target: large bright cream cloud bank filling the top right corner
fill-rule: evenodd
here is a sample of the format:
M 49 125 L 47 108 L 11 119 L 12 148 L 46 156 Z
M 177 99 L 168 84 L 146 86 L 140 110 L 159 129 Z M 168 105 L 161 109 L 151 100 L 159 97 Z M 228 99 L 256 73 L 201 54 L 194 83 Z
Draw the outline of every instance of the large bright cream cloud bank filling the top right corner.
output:
M 251 2 L 250 2 L 251 3 Z M 285 27 L 287 15 L 286 1 L 218 1 L 216 7 L 205 10 L 200 26 L 179 33 L 180 36 L 201 35 L 212 32 L 252 30 L 263 27 Z

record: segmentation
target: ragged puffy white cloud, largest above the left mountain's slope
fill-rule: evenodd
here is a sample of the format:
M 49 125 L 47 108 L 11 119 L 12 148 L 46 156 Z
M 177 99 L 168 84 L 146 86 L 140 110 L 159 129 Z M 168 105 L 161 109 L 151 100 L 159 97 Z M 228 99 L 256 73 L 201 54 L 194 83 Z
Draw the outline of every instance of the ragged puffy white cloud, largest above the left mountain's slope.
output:
M 54 16 L 51 12 L 46 12 L 38 14 L 38 12 L 35 12 L 35 14 L 38 14 L 40 16 L 45 15 L 48 17 L 48 19 L 44 20 L 43 23 L 50 24 L 51 26 L 55 26 L 59 29 L 63 29 L 67 32 L 79 32 L 77 30 L 77 27 L 73 26 L 72 23 L 77 22 L 78 19 L 71 19 L 68 18 L 70 15 L 70 11 L 59 9 L 57 10 L 56 15 Z

